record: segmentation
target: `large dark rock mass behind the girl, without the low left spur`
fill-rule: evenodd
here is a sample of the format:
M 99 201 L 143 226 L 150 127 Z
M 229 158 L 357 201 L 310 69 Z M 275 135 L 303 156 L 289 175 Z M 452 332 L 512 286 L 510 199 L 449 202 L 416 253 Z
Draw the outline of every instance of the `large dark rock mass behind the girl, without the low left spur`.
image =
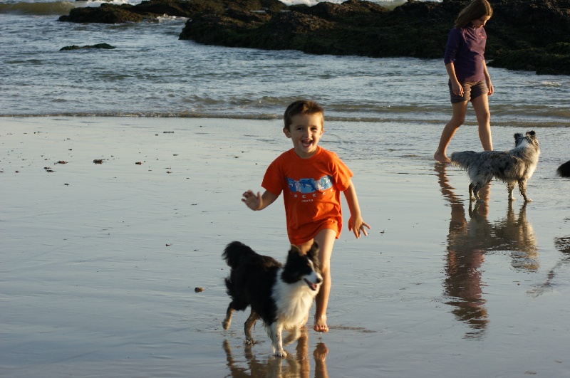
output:
M 369 1 L 348 0 L 342 4 L 289 6 L 286 11 L 268 12 L 252 23 L 244 23 L 228 11 L 197 14 L 187 21 L 180 39 L 314 54 L 442 58 L 453 22 L 467 4 L 457 0 L 408 0 L 390 11 Z M 508 58 L 507 53 L 514 50 L 570 43 L 570 0 L 499 0 L 492 5 L 494 15 L 485 26 L 485 57 L 495 59 L 494 66 L 508 68 L 501 56 L 509 61 L 529 61 Z M 567 72 L 567 55 L 544 53 L 540 65 L 526 65 L 527 69 Z

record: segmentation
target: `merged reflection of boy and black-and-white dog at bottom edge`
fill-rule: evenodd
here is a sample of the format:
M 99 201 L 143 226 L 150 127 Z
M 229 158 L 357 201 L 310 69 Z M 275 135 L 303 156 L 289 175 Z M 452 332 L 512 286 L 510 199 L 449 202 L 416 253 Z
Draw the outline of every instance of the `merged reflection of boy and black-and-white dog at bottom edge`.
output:
M 296 355 L 289 354 L 286 358 L 268 357 L 266 362 L 260 362 L 252 352 L 252 345 L 244 345 L 244 357 L 247 367 L 238 364 L 232 355 L 232 347 L 228 340 L 224 340 L 224 351 L 227 357 L 227 367 L 234 378 L 242 377 L 302 377 L 309 378 L 311 364 L 309 362 L 309 334 L 306 327 L 301 331 L 301 337 L 297 341 Z M 315 362 L 315 378 L 328 378 L 326 370 L 326 345 L 319 342 L 313 351 Z

